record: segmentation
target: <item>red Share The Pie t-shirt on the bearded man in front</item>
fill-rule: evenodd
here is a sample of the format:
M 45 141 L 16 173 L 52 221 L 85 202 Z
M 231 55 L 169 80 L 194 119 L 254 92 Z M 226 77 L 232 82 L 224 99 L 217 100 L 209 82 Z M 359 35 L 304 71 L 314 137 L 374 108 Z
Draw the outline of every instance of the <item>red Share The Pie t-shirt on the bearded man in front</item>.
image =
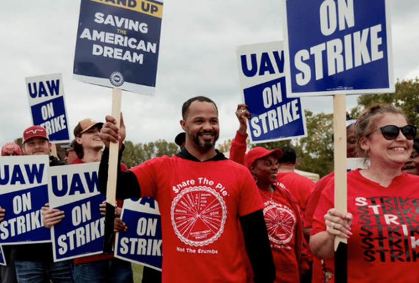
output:
M 231 160 L 153 158 L 129 169 L 158 204 L 162 282 L 244 283 L 239 216 L 263 208 L 249 170 Z

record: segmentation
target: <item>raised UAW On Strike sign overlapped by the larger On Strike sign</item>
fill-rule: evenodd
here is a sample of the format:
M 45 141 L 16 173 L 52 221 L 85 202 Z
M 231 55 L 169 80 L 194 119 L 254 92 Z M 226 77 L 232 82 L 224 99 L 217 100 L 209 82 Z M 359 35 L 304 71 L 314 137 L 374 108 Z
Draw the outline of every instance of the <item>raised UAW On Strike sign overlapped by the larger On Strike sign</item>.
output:
M 237 46 L 240 87 L 252 143 L 306 137 L 299 98 L 287 98 L 282 41 Z

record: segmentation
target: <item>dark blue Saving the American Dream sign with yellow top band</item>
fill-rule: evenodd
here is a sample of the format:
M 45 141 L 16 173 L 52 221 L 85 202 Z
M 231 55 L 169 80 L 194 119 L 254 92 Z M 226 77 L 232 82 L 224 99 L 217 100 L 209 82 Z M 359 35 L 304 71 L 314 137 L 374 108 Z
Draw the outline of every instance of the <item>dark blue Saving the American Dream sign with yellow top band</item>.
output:
M 154 95 L 163 0 L 82 0 L 74 78 Z

